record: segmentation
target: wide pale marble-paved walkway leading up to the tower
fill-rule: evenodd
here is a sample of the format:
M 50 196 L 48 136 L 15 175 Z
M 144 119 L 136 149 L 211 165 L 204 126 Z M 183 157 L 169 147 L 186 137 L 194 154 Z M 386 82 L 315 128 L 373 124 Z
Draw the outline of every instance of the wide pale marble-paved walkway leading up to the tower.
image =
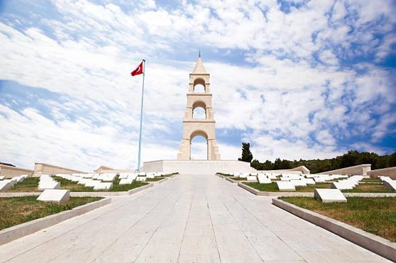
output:
M 215 175 L 179 175 L 0 246 L 0 262 L 390 262 Z

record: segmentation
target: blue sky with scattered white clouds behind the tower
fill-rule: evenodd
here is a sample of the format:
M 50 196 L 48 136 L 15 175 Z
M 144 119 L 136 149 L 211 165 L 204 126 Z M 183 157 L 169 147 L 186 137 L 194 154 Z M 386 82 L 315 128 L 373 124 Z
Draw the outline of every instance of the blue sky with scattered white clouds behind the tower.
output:
M 396 150 L 396 1 L 0 0 L 0 161 L 175 159 L 189 73 L 210 73 L 222 159 Z M 193 140 L 193 157 L 206 144 Z

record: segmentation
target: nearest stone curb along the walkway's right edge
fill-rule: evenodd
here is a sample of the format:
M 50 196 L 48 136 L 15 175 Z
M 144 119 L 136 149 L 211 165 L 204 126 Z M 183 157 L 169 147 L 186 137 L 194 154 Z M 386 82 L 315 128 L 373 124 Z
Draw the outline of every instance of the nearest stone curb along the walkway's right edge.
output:
M 300 208 L 283 200 L 273 198 L 272 204 L 312 224 L 339 235 L 358 246 L 370 250 L 375 254 L 396 262 L 396 244 L 385 238 L 352 227 L 344 222 Z

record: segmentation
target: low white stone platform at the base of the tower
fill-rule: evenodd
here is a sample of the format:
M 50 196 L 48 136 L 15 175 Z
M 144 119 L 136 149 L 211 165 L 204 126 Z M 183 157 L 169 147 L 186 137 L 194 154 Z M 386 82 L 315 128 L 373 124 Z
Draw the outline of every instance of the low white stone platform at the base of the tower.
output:
M 214 174 L 218 172 L 251 172 L 249 163 L 238 160 L 155 160 L 146 161 L 142 172 L 179 172 L 184 174 Z

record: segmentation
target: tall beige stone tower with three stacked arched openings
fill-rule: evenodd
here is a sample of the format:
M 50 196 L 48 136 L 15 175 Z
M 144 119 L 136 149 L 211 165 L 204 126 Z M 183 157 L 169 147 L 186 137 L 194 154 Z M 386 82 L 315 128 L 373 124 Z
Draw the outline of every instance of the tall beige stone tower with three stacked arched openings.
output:
M 178 160 L 191 159 L 191 140 L 197 135 L 206 138 L 208 160 L 220 160 L 219 146 L 217 146 L 215 135 L 215 124 L 212 108 L 212 93 L 210 93 L 210 74 L 206 72 L 202 63 L 201 53 L 194 69 L 190 73 L 190 83 L 187 92 L 187 108 L 183 120 L 183 138 L 177 153 Z M 196 85 L 205 87 L 204 93 L 195 91 Z M 205 119 L 193 118 L 195 108 L 202 107 L 205 110 Z

